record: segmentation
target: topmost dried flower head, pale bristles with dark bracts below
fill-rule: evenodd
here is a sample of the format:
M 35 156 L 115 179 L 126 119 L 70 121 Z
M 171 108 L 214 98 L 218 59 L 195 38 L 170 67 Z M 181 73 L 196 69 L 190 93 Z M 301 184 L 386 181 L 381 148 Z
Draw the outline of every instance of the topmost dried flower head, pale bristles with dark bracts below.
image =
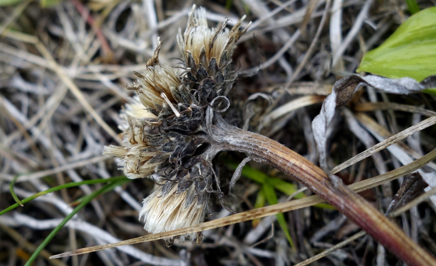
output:
M 190 73 L 189 79 L 195 84 L 199 102 L 211 106 L 215 98 L 226 96 L 237 77 L 231 71 L 232 54 L 236 41 L 244 34 L 251 22 L 239 30 L 245 16 L 232 29 L 226 28 L 227 20 L 218 28 L 208 27 L 206 10 L 193 6 L 189 14 L 186 30 L 179 29 L 177 41 L 183 60 Z M 228 101 L 227 101 L 228 102 Z M 226 108 L 221 108 L 225 111 Z M 218 110 L 216 110 L 218 111 Z

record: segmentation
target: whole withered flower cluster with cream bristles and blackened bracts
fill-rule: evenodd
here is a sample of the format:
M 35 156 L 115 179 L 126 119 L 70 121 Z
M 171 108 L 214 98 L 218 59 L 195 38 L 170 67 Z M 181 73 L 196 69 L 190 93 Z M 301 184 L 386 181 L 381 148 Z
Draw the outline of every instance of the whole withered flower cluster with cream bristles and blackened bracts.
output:
M 129 89 L 137 98 L 120 114 L 126 119 L 119 125 L 124 146 L 106 146 L 104 153 L 117 158 L 128 178 L 160 176 L 140 212 L 150 233 L 203 222 L 210 194 L 220 195 L 211 163 L 217 151 L 204 149 L 210 144 L 206 112 L 225 111 L 229 106 L 226 95 L 237 76 L 232 71 L 232 54 L 251 24 L 240 30 L 243 19 L 232 29 L 226 28 L 227 21 L 210 28 L 205 10 L 194 6 L 184 33 L 179 29 L 177 36 L 184 67 L 177 71 L 160 63 L 158 39 L 146 69 L 134 72 L 138 79 Z M 186 237 L 201 241 L 201 233 L 181 239 Z

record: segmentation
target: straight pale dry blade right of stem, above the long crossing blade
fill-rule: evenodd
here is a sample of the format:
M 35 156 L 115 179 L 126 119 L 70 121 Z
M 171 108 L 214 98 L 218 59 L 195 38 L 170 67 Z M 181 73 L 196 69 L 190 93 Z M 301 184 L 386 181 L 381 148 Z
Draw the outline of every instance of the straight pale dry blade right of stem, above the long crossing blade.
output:
M 436 116 L 432 116 L 430 118 L 427 118 L 421 122 L 419 122 L 416 125 L 412 125 L 411 127 L 395 134 L 392 135 L 389 138 L 386 138 L 384 141 L 379 142 L 378 144 L 372 146 L 371 148 L 365 150 L 364 152 L 359 153 L 358 155 L 354 156 L 353 158 L 348 159 L 347 161 L 341 163 L 340 165 L 334 167 L 331 172 L 337 173 L 339 171 L 341 171 L 344 168 L 347 168 L 350 165 L 355 164 L 356 162 L 359 162 L 361 160 L 363 160 L 364 158 L 367 158 L 368 156 L 371 156 L 372 154 L 376 153 L 376 152 L 380 152 L 382 149 L 402 140 L 405 139 L 407 137 L 409 137 L 410 135 L 412 135 L 415 132 L 421 131 L 424 128 L 428 128 L 429 126 L 432 126 L 436 124 Z

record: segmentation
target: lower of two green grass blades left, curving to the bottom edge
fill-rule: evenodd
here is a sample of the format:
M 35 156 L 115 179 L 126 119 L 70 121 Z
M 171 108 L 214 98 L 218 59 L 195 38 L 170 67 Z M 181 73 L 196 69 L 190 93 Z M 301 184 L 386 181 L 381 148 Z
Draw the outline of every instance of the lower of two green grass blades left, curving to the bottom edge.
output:
M 65 226 L 65 224 L 78 212 L 80 211 L 83 207 L 85 207 L 85 205 L 87 205 L 89 202 L 92 201 L 92 199 L 94 199 L 95 197 L 103 194 L 104 192 L 107 192 L 109 190 L 112 190 L 113 188 L 115 188 L 118 185 L 121 185 L 123 183 L 125 183 L 127 180 L 121 180 L 121 181 L 116 181 L 116 182 L 111 182 L 107 185 L 105 185 L 104 187 L 102 187 L 99 190 L 96 190 L 94 192 L 92 192 L 91 194 L 87 195 L 82 202 L 80 202 L 79 205 L 77 205 L 77 207 L 74 208 L 74 210 L 68 214 L 63 220 L 62 222 L 56 226 L 51 232 L 50 234 L 44 239 L 44 241 L 41 243 L 41 245 L 39 245 L 37 247 L 37 249 L 35 250 L 35 252 L 32 254 L 32 256 L 27 260 L 26 264 L 24 266 L 30 266 L 33 261 L 36 259 L 36 257 L 39 255 L 39 253 L 41 253 L 41 251 L 44 249 L 45 246 L 47 246 L 48 242 L 51 241 L 51 239 L 53 239 L 53 237 Z

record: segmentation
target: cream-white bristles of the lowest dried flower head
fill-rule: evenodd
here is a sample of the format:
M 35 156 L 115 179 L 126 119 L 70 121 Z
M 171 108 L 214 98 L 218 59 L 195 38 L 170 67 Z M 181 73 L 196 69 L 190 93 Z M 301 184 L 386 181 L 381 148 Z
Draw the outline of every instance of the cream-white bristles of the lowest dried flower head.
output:
M 208 200 L 198 201 L 193 197 L 194 185 L 177 194 L 177 185 L 162 195 L 162 186 L 158 186 L 143 201 L 139 219 L 145 222 L 144 229 L 150 233 L 166 232 L 194 226 L 204 221 Z M 180 240 L 196 239 L 197 233 L 180 236 Z

